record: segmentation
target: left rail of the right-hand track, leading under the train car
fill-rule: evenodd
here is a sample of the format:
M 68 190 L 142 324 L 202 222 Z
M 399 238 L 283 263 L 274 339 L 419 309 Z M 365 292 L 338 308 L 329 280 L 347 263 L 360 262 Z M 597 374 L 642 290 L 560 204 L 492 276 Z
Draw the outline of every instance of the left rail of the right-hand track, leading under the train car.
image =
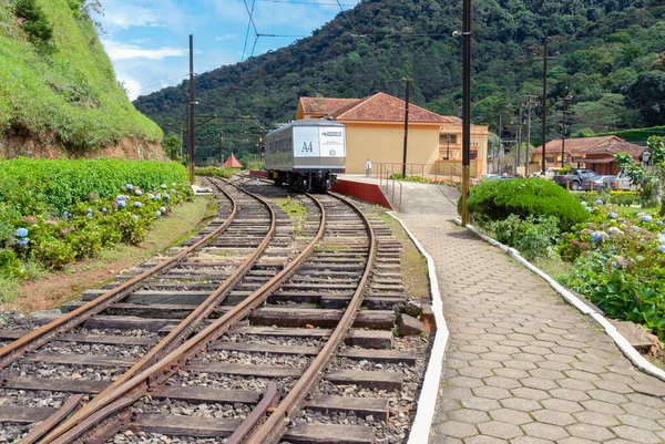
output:
M 279 286 L 282 286 L 282 283 L 284 283 L 284 281 L 286 281 L 307 259 L 324 235 L 326 226 L 326 210 L 314 196 L 309 194 L 307 194 L 307 196 L 311 198 L 319 207 L 321 220 L 316 236 L 296 257 L 296 259 L 294 259 L 294 261 L 291 261 L 277 276 L 263 285 L 258 290 L 235 306 L 226 314 L 206 326 L 177 349 L 170 351 L 165 357 L 160 359 L 160 361 L 142 370 L 139 372 L 139 374 L 134 375 L 132 379 L 125 381 L 113 390 L 109 390 L 104 393 L 104 395 L 95 396 L 85 405 L 84 411 L 82 409 L 76 412 L 74 415 L 75 417 L 70 417 L 60 427 L 45 436 L 41 443 L 65 444 L 75 442 L 79 438 L 83 438 L 83 441 L 85 441 L 83 436 L 84 433 L 106 417 L 105 415 L 100 415 L 98 412 L 121 399 L 140 399 L 146 390 L 150 391 L 156 384 L 166 381 L 172 374 L 177 372 L 181 364 L 186 362 L 190 357 L 206 348 L 209 342 L 219 338 L 222 334 L 228 331 L 231 327 L 246 318 L 255 308 L 264 303 L 268 296 L 279 288 Z M 110 412 L 109 414 L 113 412 Z

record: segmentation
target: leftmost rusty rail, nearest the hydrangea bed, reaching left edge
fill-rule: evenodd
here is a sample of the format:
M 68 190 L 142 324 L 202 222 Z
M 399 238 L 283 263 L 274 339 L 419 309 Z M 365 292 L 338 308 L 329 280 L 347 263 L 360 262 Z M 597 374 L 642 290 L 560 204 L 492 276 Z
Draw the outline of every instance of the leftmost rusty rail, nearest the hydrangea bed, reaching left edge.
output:
M 53 321 L 40 327 L 28 333 L 27 335 L 4 345 L 0 349 L 0 369 L 9 365 L 16 360 L 20 359 L 24 353 L 37 349 L 38 347 L 47 343 L 52 337 L 60 334 L 64 331 L 68 331 L 78 324 L 85 321 L 88 318 L 105 310 L 112 303 L 123 299 L 129 296 L 132 291 L 134 291 L 139 285 L 143 283 L 150 277 L 157 275 L 161 271 L 167 271 L 171 268 L 175 267 L 180 262 L 187 259 L 190 255 L 192 255 L 195 250 L 203 247 L 211 239 L 216 237 L 219 233 L 226 229 L 228 225 L 232 223 L 233 218 L 236 215 L 237 206 L 235 200 L 226 194 L 222 188 L 217 186 L 217 188 L 233 203 L 233 209 L 229 216 L 224 220 L 224 223 L 216 228 L 211 234 L 204 236 L 201 240 L 195 242 L 194 245 L 185 248 L 180 251 L 177 255 L 168 258 L 167 260 L 155 265 L 149 270 L 142 272 L 141 275 L 135 276 L 134 278 L 127 280 L 123 285 L 106 291 L 100 297 L 91 300 L 90 302 L 79 307 L 78 309 L 54 319 Z

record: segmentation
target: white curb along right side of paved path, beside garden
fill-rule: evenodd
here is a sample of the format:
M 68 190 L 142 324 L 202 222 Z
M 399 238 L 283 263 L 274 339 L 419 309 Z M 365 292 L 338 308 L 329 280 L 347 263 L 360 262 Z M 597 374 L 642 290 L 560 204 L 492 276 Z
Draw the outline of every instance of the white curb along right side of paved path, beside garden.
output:
M 454 221 L 460 226 L 462 225 L 462 221 L 460 219 L 454 219 Z M 554 289 L 554 291 L 556 291 L 570 304 L 574 306 L 582 313 L 589 314 L 591 318 L 593 318 L 594 321 L 600 323 L 601 327 L 603 328 L 603 330 L 605 330 L 605 333 L 607 333 L 607 335 L 610 338 L 612 338 L 614 343 L 616 343 L 618 349 L 628 359 L 628 361 L 631 361 L 633 363 L 633 365 L 635 365 L 637 369 L 642 370 L 643 372 L 645 372 L 654 378 L 659 379 L 661 381 L 665 381 L 665 371 L 658 369 L 656 365 L 648 362 L 642 354 L 640 354 L 640 352 L 637 352 L 637 350 L 635 350 L 635 348 L 633 348 L 633 345 L 631 345 L 631 343 L 623 337 L 623 334 L 621 334 L 618 332 L 618 330 L 616 330 L 616 328 L 604 316 L 602 316 L 601 313 L 591 309 L 589 306 L 586 306 L 584 302 L 582 302 L 580 300 L 580 298 L 577 298 L 575 295 L 573 295 L 572 292 L 566 290 L 564 287 L 562 287 L 559 282 L 556 282 L 554 279 L 552 279 L 543 270 L 541 270 L 540 268 L 535 267 L 533 264 L 531 264 L 530 261 L 524 259 L 520 255 L 520 252 L 518 250 L 515 250 L 514 248 L 507 247 L 505 245 L 492 239 L 491 237 L 483 235 L 482 233 L 477 230 L 472 225 L 467 225 L 467 228 L 470 231 L 472 231 L 473 234 L 475 234 L 477 236 L 479 236 L 480 238 L 482 238 L 483 240 L 487 240 L 491 245 L 501 248 L 503 251 L 505 251 L 510 257 L 515 259 L 518 262 L 522 264 L 524 267 L 529 268 L 531 271 L 533 271 L 534 273 L 536 273 L 538 276 L 540 276 L 541 278 L 546 280 L 548 283 L 550 285 L 550 287 L 552 287 Z

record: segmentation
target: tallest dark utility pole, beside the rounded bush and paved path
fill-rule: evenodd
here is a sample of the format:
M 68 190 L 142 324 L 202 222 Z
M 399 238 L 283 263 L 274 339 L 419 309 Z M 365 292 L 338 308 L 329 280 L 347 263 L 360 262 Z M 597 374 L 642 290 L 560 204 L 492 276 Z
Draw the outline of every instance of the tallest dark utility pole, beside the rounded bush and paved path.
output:
M 462 226 L 469 225 L 467 200 L 471 159 L 471 0 L 463 0 L 462 20 Z

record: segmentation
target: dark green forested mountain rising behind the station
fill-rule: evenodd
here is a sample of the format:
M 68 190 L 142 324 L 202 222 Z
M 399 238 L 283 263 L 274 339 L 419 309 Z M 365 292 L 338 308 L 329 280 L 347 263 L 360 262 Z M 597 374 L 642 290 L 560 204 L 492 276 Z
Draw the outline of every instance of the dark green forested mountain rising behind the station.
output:
M 252 115 L 272 126 L 294 118 L 300 96 L 403 97 L 402 78 L 411 78 L 415 103 L 458 115 L 461 40 L 452 32 L 461 17 L 461 0 L 365 0 L 290 47 L 200 75 L 198 112 Z M 530 94 L 540 112 L 546 35 L 552 135 L 561 131 L 556 103 L 566 91 L 574 96 L 569 134 L 665 123 L 665 0 L 473 1 L 475 123 L 497 131 L 501 114 L 510 124 Z M 176 133 L 186 92 L 184 82 L 135 105 Z M 538 125 L 536 117 L 536 143 Z M 226 135 L 250 128 L 233 121 L 201 125 L 198 156 L 216 155 L 221 127 Z

